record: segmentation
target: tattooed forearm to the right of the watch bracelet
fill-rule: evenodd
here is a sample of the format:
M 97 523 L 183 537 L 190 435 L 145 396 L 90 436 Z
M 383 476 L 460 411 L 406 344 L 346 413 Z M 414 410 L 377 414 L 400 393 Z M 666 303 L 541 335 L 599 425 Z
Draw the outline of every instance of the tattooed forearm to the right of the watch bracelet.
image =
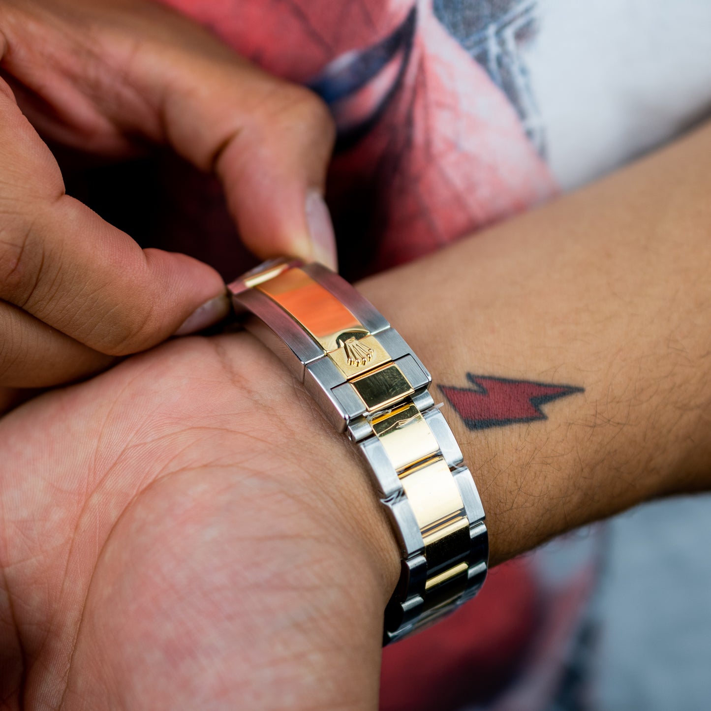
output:
M 432 372 L 486 508 L 492 562 L 710 485 L 710 153 L 704 129 L 360 284 Z M 555 402 L 539 416 L 533 386 L 486 397 L 498 384 L 468 374 L 570 389 L 545 391 Z

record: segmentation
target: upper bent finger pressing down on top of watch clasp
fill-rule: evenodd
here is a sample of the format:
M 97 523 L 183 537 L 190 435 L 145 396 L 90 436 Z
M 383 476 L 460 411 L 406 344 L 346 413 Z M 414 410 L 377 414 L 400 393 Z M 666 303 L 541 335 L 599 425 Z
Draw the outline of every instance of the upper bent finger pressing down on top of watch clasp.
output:
M 116 134 L 167 143 L 218 173 L 242 240 L 258 257 L 336 266 L 323 201 L 335 131 L 316 95 L 154 2 L 53 8 L 41 15 L 43 36 L 22 21 L 21 4 L 4 10 L 16 17 L 6 67 L 64 119 L 60 126 L 38 117 L 50 134 L 90 151 L 115 149 Z

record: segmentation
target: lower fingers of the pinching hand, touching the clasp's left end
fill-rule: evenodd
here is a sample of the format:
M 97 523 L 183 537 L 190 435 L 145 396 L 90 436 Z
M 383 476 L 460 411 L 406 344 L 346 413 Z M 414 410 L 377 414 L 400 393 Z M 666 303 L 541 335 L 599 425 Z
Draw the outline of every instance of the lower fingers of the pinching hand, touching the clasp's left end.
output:
M 0 384 L 77 378 L 106 354 L 145 350 L 228 311 L 215 269 L 141 250 L 65 195 L 56 161 L 1 80 L 0 203 Z

